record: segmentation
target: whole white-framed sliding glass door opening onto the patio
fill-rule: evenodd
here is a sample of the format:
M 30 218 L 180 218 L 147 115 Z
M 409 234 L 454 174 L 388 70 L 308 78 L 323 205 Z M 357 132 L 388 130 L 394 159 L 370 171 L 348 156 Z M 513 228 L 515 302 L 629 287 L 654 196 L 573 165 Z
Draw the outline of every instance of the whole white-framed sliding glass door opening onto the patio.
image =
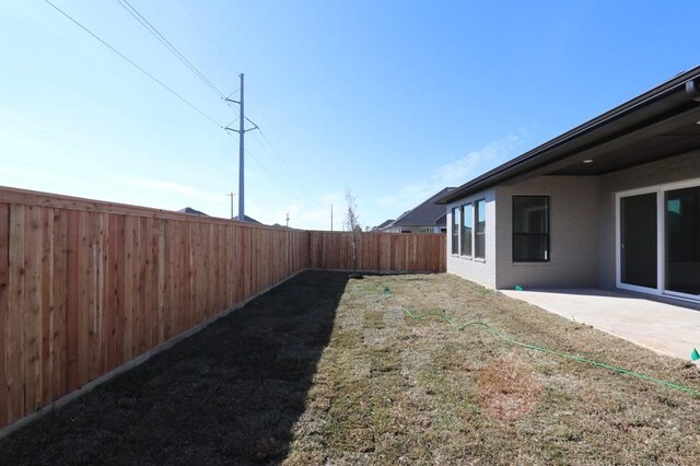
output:
M 700 180 L 618 198 L 618 287 L 700 301 Z

